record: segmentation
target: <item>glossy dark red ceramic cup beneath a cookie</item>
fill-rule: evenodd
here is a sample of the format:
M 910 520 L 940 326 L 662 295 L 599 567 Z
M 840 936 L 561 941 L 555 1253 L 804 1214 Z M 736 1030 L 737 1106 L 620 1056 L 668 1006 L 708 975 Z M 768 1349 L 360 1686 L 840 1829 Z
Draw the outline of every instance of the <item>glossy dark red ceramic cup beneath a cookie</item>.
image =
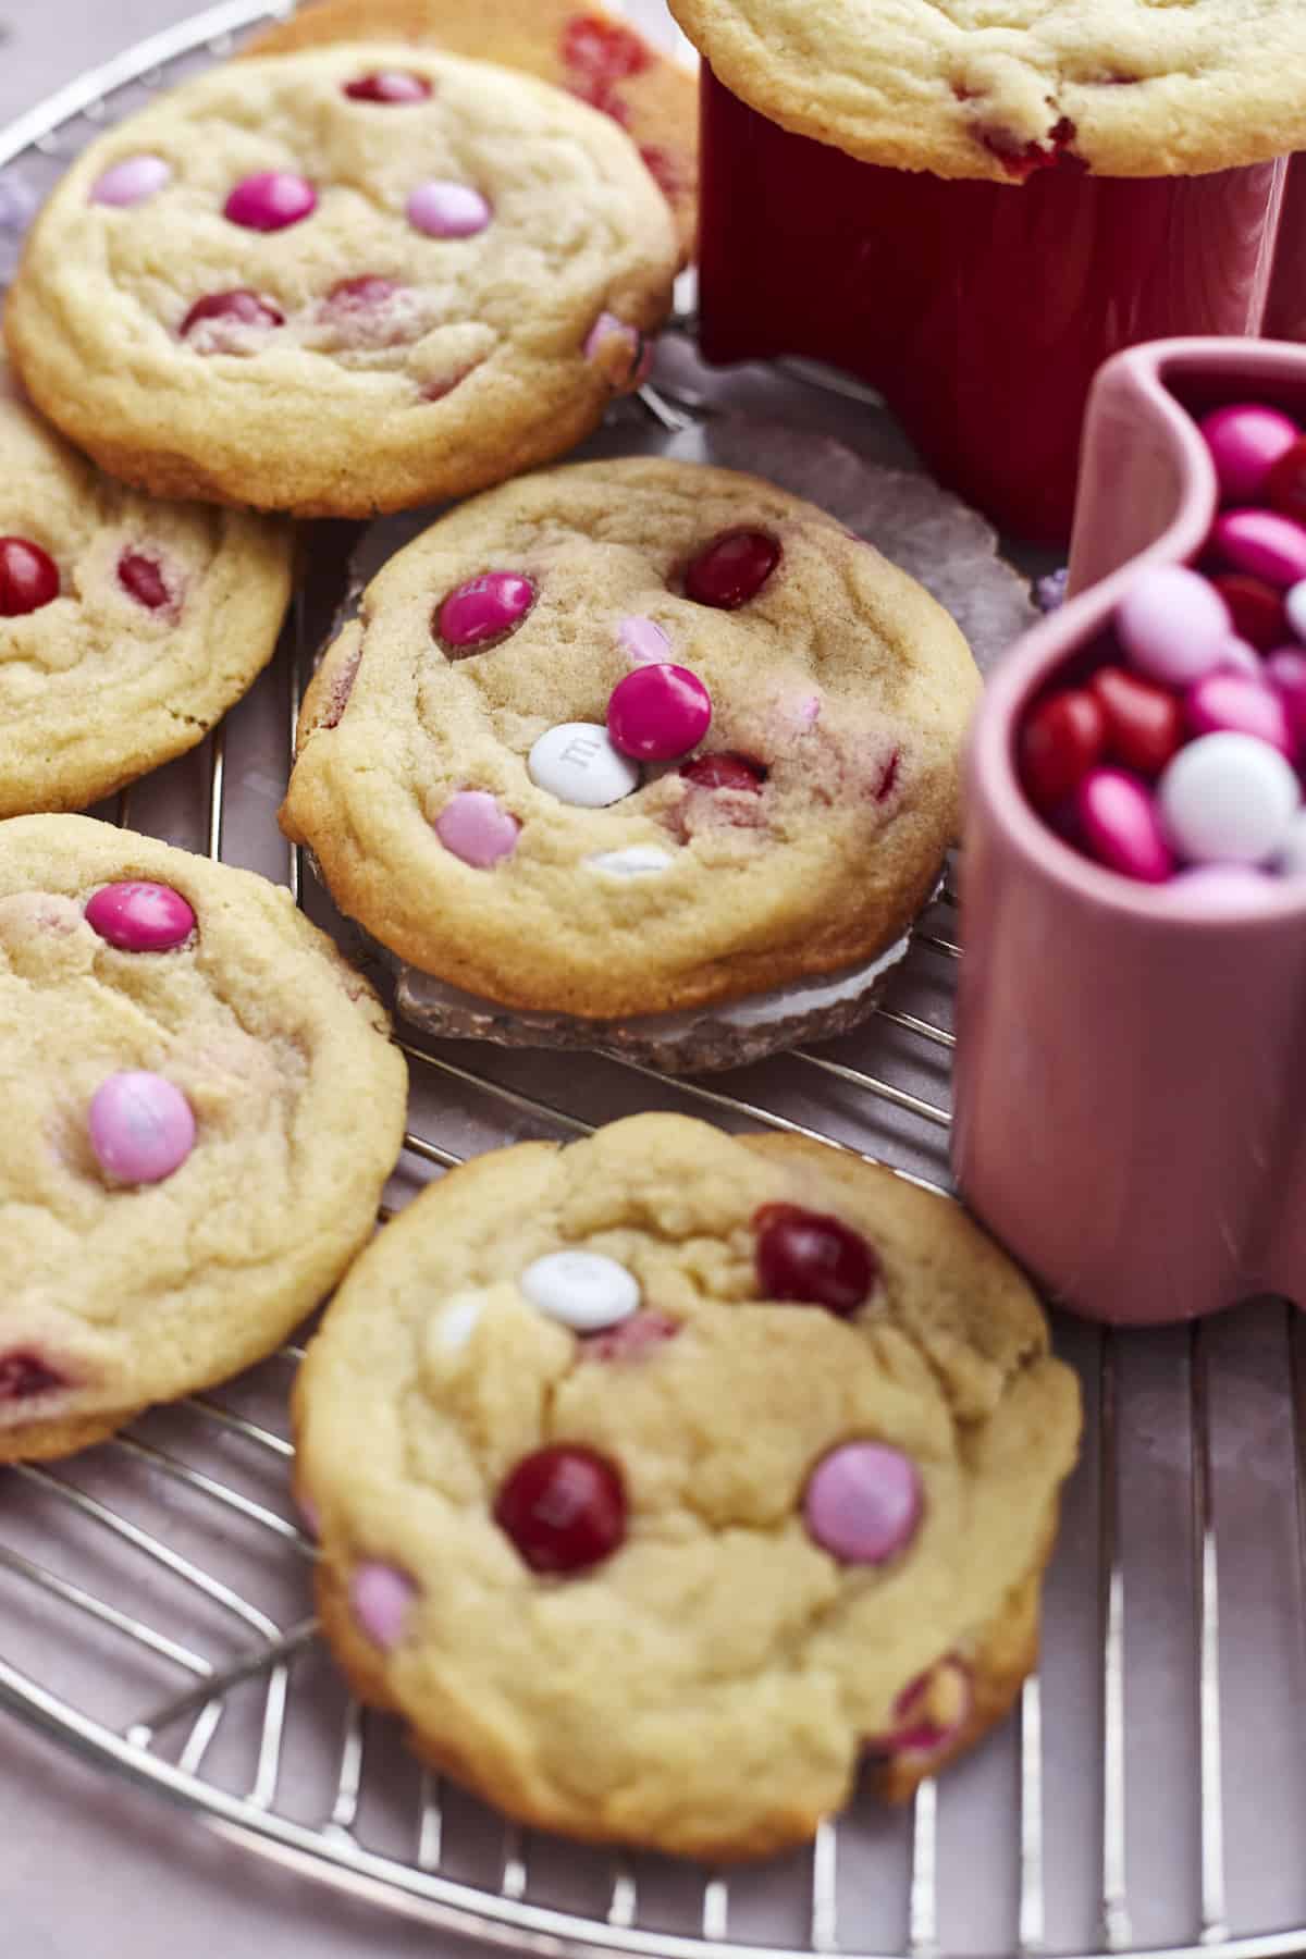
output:
M 701 347 L 879 388 L 1004 531 L 1069 537 L 1089 386 L 1171 333 L 1259 333 L 1286 165 L 1020 184 L 887 170 L 791 135 L 703 67 Z

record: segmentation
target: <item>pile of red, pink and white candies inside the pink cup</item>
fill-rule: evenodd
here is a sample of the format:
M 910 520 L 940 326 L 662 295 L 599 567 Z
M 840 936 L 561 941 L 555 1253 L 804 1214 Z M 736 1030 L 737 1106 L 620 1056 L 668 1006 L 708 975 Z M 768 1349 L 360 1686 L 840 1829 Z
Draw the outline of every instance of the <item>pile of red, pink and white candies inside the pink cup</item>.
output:
M 1222 500 L 1202 568 L 1138 574 L 1116 656 L 1034 703 L 1018 766 L 1085 856 L 1237 903 L 1306 878 L 1306 435 L 1257 404 L 1200 429 Z

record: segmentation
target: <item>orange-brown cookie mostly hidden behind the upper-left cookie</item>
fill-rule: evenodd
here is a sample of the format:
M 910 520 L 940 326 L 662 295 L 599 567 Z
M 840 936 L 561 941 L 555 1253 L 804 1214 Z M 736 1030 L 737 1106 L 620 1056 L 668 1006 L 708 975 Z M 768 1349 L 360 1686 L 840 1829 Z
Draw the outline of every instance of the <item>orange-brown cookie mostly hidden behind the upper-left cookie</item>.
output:
M 249 43 L 249 55 L 286 55 L 333 41 L 417 41 L 523 69 L 603 110 L 638 145 L 693 255 L 699 204 L 699 90 L 634 27 L 576 0 L 311 0 Z

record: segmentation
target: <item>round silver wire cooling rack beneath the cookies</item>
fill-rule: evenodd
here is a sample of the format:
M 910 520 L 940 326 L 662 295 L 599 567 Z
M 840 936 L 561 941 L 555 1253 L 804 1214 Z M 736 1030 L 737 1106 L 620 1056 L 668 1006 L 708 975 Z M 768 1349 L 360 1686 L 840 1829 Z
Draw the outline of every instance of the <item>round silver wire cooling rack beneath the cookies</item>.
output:
M 274 12 L 213 8 L 25 116 L 0 137 L 0 225 L 98 125 Z M 294 703 L 339 596 L 341 539 L 317 539 L 249 699 L 98 815 L 278 878 L 349 936 L 274 823 Z M 957 956 L 944 893 L 865 1030 L 711 1085 L 407 1038 L 411 1126 L 382 1215 L 480 1148 L 570 1140 L 634 1107 L 793 1128 L 948 1189 Z M 1190 1330 L 1057 1328 L 1087 1444 L 1040 1675 L 910 1810 L 863 1794 L 764 1869 L 726 1877 L 525 1834 L 425 1775 L 392 1722 L 349 1700 L 315 1638 L 313 1546 L 288 1499 L 300 1346 L 69 1463 L 0 1471 L 0 1706 L 253 1853 L 554 1959 L 1296 1953 L 1304 1324 L 1257 1301 Z

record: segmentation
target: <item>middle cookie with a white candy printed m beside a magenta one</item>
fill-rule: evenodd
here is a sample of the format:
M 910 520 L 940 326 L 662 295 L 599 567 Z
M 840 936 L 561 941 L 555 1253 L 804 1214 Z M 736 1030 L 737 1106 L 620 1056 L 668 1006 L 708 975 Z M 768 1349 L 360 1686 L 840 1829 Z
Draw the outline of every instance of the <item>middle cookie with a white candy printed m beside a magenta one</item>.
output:
M 863 964 L 934 889 L 979 676 L 758 478 L 593 462 L 441 519 L 362 596 L 282 811 L 427 974 L 599 1019 Z

